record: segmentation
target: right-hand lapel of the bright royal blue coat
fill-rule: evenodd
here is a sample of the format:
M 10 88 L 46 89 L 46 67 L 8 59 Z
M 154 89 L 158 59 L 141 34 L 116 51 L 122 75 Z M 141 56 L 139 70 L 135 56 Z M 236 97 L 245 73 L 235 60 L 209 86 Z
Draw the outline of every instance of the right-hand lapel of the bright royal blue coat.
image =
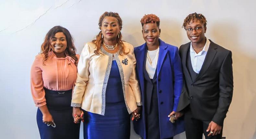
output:
M 165 42 L 163 42 L 161 39 L 159 39 L 159 56 L 158 56 L 158 61 L 157 61 L 157 77 L 159 75 L 160 69 L 162 67 L 162 64 L 164 62 L 164 58 L 167 54 L 167 48 Z

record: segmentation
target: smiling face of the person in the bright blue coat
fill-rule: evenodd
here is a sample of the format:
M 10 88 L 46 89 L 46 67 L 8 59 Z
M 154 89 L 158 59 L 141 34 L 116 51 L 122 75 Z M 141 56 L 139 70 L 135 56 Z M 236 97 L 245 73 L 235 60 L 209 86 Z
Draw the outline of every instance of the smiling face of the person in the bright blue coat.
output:
M 161 30 L 157 23 L 146 23 L 143 25 L 142 35 L 147 46 L 159 46 L 159 35 Z

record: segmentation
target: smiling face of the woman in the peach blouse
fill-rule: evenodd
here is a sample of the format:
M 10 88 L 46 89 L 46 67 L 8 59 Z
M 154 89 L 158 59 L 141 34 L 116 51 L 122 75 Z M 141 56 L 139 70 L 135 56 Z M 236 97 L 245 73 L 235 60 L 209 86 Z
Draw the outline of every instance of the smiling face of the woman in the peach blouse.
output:
M 51 48 L 57 58 L 65 57 L 65 50 L 67 48 L 66 36 L 63 32 L 57 32 L 51 39 Z

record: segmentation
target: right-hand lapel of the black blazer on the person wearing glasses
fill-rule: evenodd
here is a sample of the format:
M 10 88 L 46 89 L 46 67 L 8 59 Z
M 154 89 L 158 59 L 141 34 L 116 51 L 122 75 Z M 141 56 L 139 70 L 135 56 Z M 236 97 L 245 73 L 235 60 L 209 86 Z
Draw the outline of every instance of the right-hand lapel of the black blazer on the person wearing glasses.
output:
M 206 54 L 206 57 L 205 57 L 205 59 L 204 59 L 203 66 L 202 66 L 202 68 L 201 68 L 199 74 L 197 75 L 195 81 L 199 80 L 199 79 L 202 77 L 202 75 L 204 75 L 204 72 L 205 72 L 205 71 L 209 68 L 209 66 L 211 65 L 211 63 L 212 63 L 212 61 L 213 61 L 213 59 L 214 59 L 214 57 L 215 57 L 215 55 L 216 55 L 216 52 L 217 52 L 217 51 L 215 50 L 216 48 L 217 48 L 217 47 L 216 47 L 215 43 L 213 43 L 213 42 L 211 41 L 210 46 L 209 46 L 209 49 L 208 49 L 207 54 Z M 195 82 L 195 81 L 194 81 L 194 82 Z

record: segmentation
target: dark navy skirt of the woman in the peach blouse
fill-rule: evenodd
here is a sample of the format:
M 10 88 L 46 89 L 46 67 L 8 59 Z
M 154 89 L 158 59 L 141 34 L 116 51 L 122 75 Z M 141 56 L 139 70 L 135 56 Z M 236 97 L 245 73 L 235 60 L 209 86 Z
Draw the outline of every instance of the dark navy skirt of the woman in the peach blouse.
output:
M 41 139 L 79 139 L 80 123 L 73 121 L 70 106 L 72 90 L 52 91 L 45 90 L 45 98 L 49 112 L 52 115 L 56 127 L 47 126 L 42 121 L 42 112 L 37 109 L 37 125 Z

